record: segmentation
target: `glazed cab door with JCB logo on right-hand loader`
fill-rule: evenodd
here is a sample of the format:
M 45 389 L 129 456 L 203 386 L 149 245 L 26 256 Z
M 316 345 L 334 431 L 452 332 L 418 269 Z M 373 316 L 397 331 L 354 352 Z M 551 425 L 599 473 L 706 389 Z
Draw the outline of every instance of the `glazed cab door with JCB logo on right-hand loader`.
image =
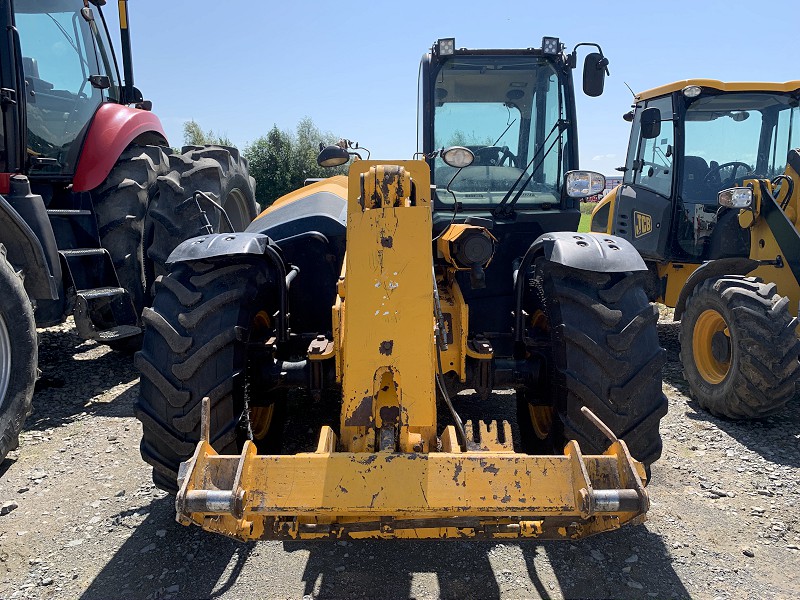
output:
M 654 138 L 645 138 L 640 116 L 650 107 L 658 109 L 661 115 L 661 131 Z M 637 104 L 612 233 L 631 242 L 646 259 L 666 258 L 675 179 L 674 154 L 672 97 Z

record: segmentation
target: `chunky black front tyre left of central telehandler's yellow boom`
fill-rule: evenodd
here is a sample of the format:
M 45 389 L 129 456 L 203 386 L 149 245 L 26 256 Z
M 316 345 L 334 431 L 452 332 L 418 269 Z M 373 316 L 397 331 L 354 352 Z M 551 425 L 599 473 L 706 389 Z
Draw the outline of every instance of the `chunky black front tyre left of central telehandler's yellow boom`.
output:
M 248 438 L 262 451 L 275 451 L 283 397 L 263 392 L 256 367 L 271 358 L 263 355 L 263 341 L 272 333 L 278 287 L 260 257 L 237 257 L 179 263 L 156 280 L 155 290 L 136 355 L 142 374 L 136 416 L 153 481 L 174 493 L 178 467 L 200 439 L 204 396 L 211 399 L 211 443 L 217 452 L 238 453 Z M 258 357 L 250 345 L 256 341 L 262 342 L 256 345 L 262 349 Z M 260 403 L 246 410 L 250 397 Z

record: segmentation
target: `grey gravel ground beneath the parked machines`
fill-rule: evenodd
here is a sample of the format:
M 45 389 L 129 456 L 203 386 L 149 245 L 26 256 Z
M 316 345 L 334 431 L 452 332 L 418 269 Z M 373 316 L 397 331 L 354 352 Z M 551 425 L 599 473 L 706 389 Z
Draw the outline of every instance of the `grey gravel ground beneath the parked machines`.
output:
M 182 527 L 139 458 L 130 357 L 71 322 L 40 330 L 35 412 L 0 464 L 0 599 L 800 596 L 800 398 L 761 422 L 711 417 L 684 395 L 677 326 L 659 327 L 670 411 L 649 521 L 521 544 L 241 544 Z

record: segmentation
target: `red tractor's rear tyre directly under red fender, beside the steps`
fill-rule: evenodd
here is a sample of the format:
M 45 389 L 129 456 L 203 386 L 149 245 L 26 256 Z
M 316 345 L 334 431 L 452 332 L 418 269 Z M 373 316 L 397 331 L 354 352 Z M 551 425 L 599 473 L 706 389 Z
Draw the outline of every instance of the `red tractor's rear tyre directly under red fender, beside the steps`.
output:
M 128 291 L 136 314 L 150 303 L 144 221 L 147 207 L 158 192 L 158 177 L 167 172 L 167 156 L 158 146 L 131 144 L 122 153 L 105 181 L 91 192 L 100 243 L 108 250 L 120 286 Z M 108 344 L 133 352 L 141 336 Z

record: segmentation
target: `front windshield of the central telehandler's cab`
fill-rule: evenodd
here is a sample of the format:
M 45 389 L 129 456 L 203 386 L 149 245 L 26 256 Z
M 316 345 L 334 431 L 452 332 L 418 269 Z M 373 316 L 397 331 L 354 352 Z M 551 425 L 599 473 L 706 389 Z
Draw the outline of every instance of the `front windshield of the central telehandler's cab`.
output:
M 562 148 L 568 133 L 563 93 L 553 66 L 537 57 L 468 56 L 446 62 L 434 82 L 433 143 L 466 146 L 475 161 L 451 185 L 459 202 L 497 205 L 525 173 L 518 206 L 559 204 Z M 554 130 L 555 128 L 555 130 Z M 549 136 L 549 137 L 548 137 Z M 456 173 L 440 158 L 433 180 L 441 190 Z M 450 194 L 438 194 L 452 202 Z

